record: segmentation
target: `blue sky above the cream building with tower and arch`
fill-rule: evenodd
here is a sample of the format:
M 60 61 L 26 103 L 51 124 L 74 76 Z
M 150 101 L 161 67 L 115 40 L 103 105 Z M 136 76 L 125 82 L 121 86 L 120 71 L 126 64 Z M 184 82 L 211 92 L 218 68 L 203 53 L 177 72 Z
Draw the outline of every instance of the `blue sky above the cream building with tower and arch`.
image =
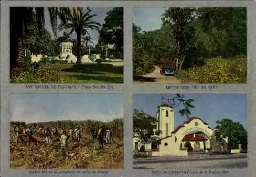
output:
M 180 93 L 185 99 L 194 99 L 190 117 L 199 117 L 215 128 L 216 121 L 223 118 L 239 122 L 248 130 L 247 125 L 247 96 L 243 93 Z M 135 94 L 133 97 L 133 108 L 144 111 L 156 117 L 157 106 L 163 104 L 162 96 L 173 98 L 175 94 Z M 187 120 L 180 116 L 178 111 L 182 107 L 174 108 L 175 128 Z

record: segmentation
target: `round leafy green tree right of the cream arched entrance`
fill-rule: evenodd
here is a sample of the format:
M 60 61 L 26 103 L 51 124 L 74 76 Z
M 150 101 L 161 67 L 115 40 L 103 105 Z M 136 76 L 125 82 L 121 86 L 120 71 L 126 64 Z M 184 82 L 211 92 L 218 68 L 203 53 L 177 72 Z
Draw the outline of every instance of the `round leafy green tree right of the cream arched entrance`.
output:
M 228 152 L 231 153 L 231 148 L 234 143 L 247 144 L 247 131 L 239 122 L 233 122 L 231 119 L 222 119 L 216 121 L 218 124 L 215 129 L 217 141 L 222 141 L 222 138 L 228 137 Z

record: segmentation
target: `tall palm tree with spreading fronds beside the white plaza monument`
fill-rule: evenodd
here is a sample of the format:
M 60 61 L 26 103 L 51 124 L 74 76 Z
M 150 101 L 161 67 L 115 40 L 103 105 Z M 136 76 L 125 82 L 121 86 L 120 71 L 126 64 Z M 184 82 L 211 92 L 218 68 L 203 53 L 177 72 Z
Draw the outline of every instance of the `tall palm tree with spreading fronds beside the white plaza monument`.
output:
M 82 8 L 82 7 L 72 7 L 65 8 L 61 10 L 59 15 L 61 23 L 58 26 L 60 31 L 70 29 L 70 34 L 74 31 L 77 36 L 77 64 L 82 63 L 81 61 L 81 41 L 82 35 L 86 35 L 88 33 L 88 29 L 91 30 L 100 30 L 101 25 L 96 21 L 93 21 L 92 18 L 97 16 L 96 14 L 91 14 L 92 10 L 90 8 Z M 63 13 L 65 12 L 65 13 Z M 89 35 L 90 36 L 90 35 Z

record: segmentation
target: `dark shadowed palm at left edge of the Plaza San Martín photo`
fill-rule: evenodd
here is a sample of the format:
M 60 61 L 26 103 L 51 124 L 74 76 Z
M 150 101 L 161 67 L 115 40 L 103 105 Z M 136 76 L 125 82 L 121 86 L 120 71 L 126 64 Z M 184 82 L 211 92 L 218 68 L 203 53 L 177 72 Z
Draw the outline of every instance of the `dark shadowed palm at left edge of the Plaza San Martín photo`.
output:
M 57 19 L 60 16 L 62 8 L 49 7 L 49 14 L 51 19 L 52 31 L 57 37 Z M 39 31 L 44 27 L 45 16 L 44 7 L 10 7 L 10 68 L 20 67 L 24 63 L 24 56 L 22 55 L 23 37 L 28 34 L 28 27 L 33 23 L 34 13 L 36 14 L 36 21 Z M 62 15 L 63 16 L 63 15 Z M 22 64 L 21 64 L 22 65 Z

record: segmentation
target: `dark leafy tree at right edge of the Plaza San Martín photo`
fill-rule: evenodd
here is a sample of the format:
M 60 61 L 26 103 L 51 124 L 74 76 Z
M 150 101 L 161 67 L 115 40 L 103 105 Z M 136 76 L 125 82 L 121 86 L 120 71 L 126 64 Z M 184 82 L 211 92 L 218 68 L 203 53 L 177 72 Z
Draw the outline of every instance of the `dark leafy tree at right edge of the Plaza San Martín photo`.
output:
M 123 7 L 114 7 L 108 11 L 104 24 L 99 32 L 98 43 L 115 45 L 123 57 Z

